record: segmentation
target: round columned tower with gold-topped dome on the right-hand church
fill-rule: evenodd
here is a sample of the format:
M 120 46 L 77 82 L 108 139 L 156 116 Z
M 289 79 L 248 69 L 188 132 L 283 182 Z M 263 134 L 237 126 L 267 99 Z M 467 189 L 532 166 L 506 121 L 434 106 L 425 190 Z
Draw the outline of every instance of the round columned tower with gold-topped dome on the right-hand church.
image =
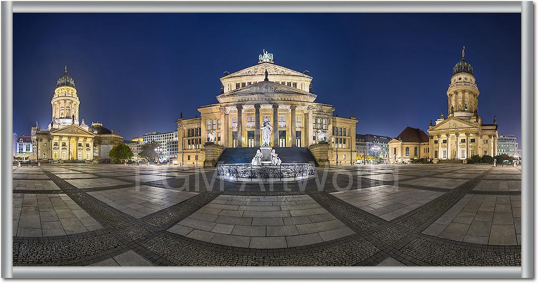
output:
M 475 72 L 464 57 L 465 47 L 462 50 L 462 59 L 452 69 L 452 78 L 447 90 L 449 117 L 460 119 L 470 118 L 478 112 L 478 95 L 480 95 Z

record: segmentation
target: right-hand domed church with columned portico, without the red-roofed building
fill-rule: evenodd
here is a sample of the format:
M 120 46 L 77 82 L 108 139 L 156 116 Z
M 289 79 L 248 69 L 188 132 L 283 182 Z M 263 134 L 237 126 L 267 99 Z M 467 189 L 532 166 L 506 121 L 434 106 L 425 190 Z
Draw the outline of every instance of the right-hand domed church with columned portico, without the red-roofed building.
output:
M 462 58 L 452 68 L 447 114 L 442 112 L 434 123 L 430 120 L 427 150 L 434 162 L 461 163 L 473 155 L 496 155 L 497 119 L 491 117 L 492 124 L 483 122 L 478 114 L 479 95 L 475 70 L 465 59 L 463 47 Z

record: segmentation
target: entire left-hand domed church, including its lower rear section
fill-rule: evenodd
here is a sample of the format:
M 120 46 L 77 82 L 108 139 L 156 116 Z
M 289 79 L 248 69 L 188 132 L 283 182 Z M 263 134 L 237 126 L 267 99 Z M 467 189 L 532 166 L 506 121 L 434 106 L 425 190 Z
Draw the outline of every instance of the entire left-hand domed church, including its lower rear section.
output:
M 56 81 L 52 95 L 52 119 L 46 129 L 31 128 L 34 161 L 91 162 L 108 159 L 110 149 L 123 142 L 123 137 L 114 134 L 97 122 L 86 125 L 79 122 L 80 100 L 75 80 L 65 72 Z

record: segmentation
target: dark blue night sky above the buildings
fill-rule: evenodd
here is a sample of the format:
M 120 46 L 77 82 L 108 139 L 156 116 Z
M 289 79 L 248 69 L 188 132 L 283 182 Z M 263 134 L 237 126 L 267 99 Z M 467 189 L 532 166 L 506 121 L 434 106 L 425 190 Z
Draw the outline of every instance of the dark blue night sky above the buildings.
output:
M 256 64 L 309 70 L 318 102 L 355 113 L 358 133 L 426 130 L 447 112 L 452 67 L 475 68 L 479 114 L 521 133 L 520 14 L 21 14 L 13 15 L 13 131 L 51 120 L 67 64 L 80 118 L 125 139 L 176 129 L 180 112 L 216 103 L 223 71 Z

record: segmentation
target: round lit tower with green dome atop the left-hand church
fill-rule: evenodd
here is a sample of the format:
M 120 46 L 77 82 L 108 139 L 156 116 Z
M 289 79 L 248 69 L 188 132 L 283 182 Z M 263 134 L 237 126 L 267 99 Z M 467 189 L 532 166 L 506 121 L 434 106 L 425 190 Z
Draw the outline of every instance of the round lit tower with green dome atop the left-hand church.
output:
M 65 73 L 56 82 L 56 89 L 51 100 L 52 121 L 58 125 L 79 125 L 79 97 L 76 95 L 74 79 Z

